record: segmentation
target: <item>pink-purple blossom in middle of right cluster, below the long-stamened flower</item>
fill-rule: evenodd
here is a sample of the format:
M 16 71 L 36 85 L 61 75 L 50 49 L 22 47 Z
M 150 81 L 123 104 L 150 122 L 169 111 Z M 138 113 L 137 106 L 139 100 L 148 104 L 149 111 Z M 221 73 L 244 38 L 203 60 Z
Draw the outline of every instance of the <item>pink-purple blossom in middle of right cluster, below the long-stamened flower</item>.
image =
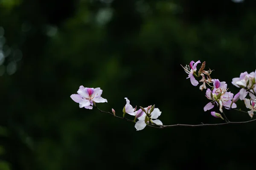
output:
M 211 91 L 208 88 L 206 91 L 206 97 L 212 101 L 204 106 L 204 111 L 212 109 L 214 107 L 214 103 L 219 105 L 219 110 L 221 111 L 221 113 L 223 112 L 223 106 L 227 109 L 230 109 L 230 107 L 236 108 L 236 103 L 232 104 L 234 94 L 231 92 L 227 92 L 226 82 L 220 82 L 218 79 L 212 79 L 212 82 L 214 87 L 213 90 Z

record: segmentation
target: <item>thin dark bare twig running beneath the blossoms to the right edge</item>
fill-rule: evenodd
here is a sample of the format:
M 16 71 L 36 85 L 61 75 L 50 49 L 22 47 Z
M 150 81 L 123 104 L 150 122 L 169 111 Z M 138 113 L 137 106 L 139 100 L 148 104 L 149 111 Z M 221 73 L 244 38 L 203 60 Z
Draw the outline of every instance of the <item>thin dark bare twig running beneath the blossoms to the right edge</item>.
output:
M 111 112 L 106 112 L 106 111 L 102 111 L 100 110 L 97 106 L 93 106 L 94 108 L 97 108 L 100 112 L 102 113 L 108 113 L 108 114 L 111 114 L 112 116 L 118 118 L 118 119 L 124 119 L 128 122 L 133 122 L 133 123 L 136 123 L 134 122 L 133 120 L 130 120 L 130 119 L 127 119 L 125 117 L 119 117 L 119 116 L 115 116 L 113 113 Z M 201 123 L 199 125 L 187 125 L 187 124 L 176 124 L 176 125 L 156 125 L 156 124 L 147 124 L 147 126 L 150 126 L 150 127 L 155 127 L 155 128 L 159 128 L 159 129 L 163 129 L 163 128 L 166 128 L 166 127 L 175 127 L 175 126 L 186 126 L 186 127 L 199 127 L 199 126 L 218 126 L 218 125 L 227 125 L 227 124 L 244 124 L 244 123 L 249 123 L 249 122 L 253 122 L 253 121 L 256 121 L 256 119 L 253 119 L 253 120 L 249 120 L 249 121 L 245 121 L 245 122 L 226 122 L 226 123 L 215 123 L 215 124 L 204 124 L 204 123 Z

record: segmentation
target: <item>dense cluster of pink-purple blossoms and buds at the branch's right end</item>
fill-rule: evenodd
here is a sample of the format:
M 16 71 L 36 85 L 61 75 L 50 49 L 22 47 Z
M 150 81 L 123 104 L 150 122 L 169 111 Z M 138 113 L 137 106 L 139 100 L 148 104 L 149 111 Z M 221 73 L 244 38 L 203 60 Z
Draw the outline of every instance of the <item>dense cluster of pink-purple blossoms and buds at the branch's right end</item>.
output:
M 203 84 L 200 85 L 200 90 L 206 89 L 206 85 L 209 85 L 211 88 L 207 88 L 206 90 L 206 97 L 207 99 L 211 100 L 207 105 L 204 106 L 204 111 L 211 110 L 214 108 L 214 106 L 219 107 L 219 111 L 223 113 L 222 108 L 226 109 L 232 109 L 236 108 L 236 103 L 239 99 L 244 100 L 245 106 L 250 109 L 248 111 L 249 116 L 253 117 L 253 112 L 256 111 L 256 71 L 251 72 L 248 74 L 247 72 L 241 73 L 240 77 L 233 78 L 232 84 L 235 85 L 238 88 L 241 88 L 239 93 L 237 93 L 235 96 L 233 93 L 228 92 L 227 84 L 226 82 L 220 82 L 218 79 L 212 79 L 210 77 L 210 74 L 212 73 L 211 70 L 205 71 L 205 62 L 201 65 L 201 68 L 198 71 L 197 74 L 197 65 L 198 63 L 201 63 L 200 60 L 197 62 L 191 61 L 189 65 L 186 65 L 183 67 L 185 72 L 189 74 L 187 79 L 190 79 L 190 82 L 192 85 L 197 86 L 199 82 L 202 82 Z M 201 78 L 201 80 L 198 82 L 196 78 Z M 250 99 L 247 99 L 246 96 L 249 94 Z M 214 111 L 211 112 L 212 116 L 222 118 L 220 113 L 216 113 Z

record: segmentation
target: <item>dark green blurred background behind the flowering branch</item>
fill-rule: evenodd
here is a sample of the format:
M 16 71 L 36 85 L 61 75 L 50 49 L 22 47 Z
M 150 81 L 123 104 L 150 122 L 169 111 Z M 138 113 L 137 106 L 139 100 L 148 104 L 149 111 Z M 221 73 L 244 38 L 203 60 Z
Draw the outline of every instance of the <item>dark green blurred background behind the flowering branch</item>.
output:
M 0 170 L 255 169 L 254 122 L 136 131 L 70 99 L 100 87 L 118 116 L 128 97 L 164 125 L 220 123 L 180 64 L 206 61 L 236 94 L 255 35 L 255 0 L 0 0 Z

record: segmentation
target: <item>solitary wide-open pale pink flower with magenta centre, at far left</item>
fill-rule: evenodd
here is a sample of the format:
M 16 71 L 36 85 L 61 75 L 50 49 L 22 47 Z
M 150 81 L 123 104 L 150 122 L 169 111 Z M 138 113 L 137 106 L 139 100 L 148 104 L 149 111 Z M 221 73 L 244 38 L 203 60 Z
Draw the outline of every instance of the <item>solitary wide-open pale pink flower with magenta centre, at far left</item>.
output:
M 102 90 L 100 88 L 84 88 L 80 86 L 78 94 L 72 94 L 70 97 L 75 102 L 79 103 L 79 108 L 93 109 L 93 102 L 104 103 L 107 99 L 101 97 Z

